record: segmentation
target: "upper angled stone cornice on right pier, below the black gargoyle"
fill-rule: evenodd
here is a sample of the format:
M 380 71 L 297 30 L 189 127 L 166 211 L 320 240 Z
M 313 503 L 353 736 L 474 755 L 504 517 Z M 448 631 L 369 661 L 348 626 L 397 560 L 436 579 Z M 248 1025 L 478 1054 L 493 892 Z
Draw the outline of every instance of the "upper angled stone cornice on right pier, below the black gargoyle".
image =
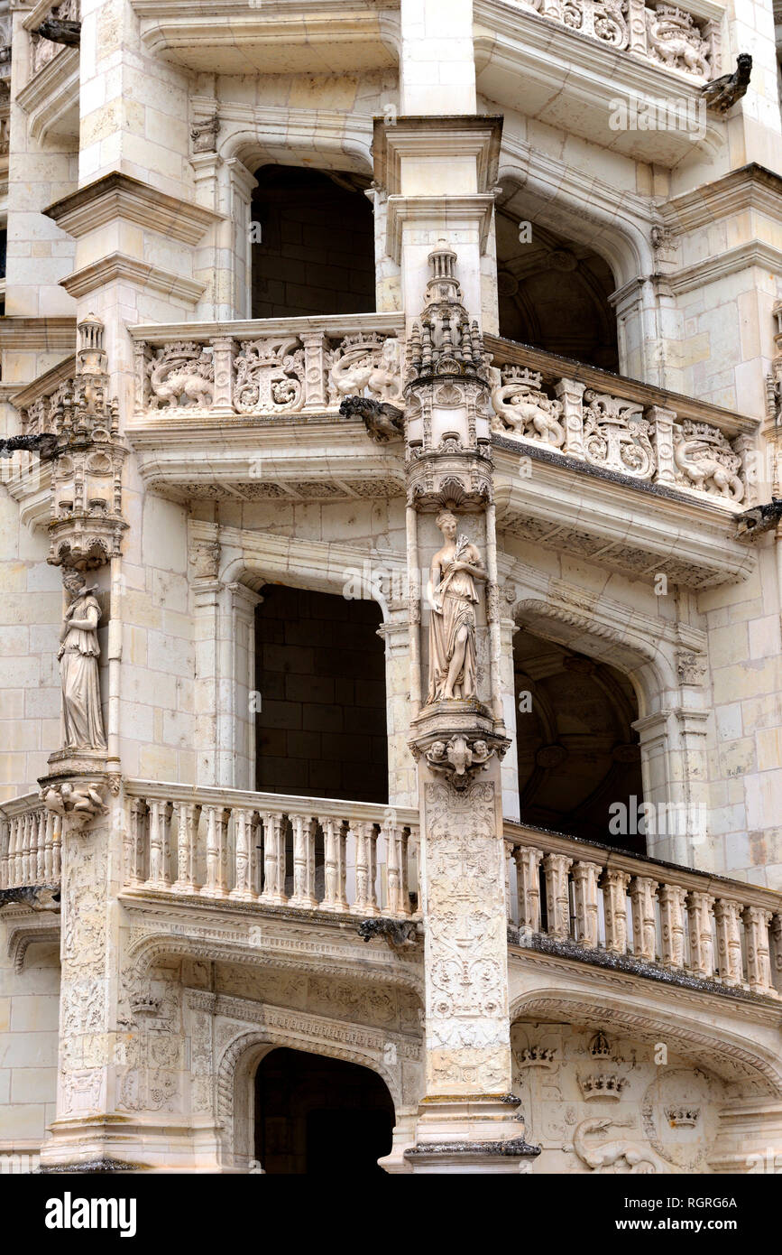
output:
M 778 221 L 782 217 L 782 176 L 752 162 L 713 183 L 703 183 L 692 192 L 674 196 L 658 207 L 673 235 L 711 226 L 747 208 Z

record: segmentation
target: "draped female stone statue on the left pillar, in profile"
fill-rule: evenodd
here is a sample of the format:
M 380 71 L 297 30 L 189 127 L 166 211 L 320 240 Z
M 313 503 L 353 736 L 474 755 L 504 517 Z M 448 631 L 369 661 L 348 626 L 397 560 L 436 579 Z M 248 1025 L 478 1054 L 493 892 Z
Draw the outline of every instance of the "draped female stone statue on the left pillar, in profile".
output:
M 60 631 L 60 680 L 63 683 L 63 747 L 105 749 L 98 679 L 98 624 L 100 606 L 95 587 L 86 589 L 80 571 L 66 570 L 63 584 L 70 605 Z

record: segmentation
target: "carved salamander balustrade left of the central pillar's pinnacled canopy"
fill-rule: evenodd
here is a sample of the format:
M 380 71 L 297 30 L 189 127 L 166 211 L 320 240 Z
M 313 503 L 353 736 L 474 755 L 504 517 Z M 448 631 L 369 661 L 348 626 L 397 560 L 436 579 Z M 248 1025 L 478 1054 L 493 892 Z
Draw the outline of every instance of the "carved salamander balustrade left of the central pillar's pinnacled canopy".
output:
M 135 413 L 277 417 L 338 412 L 343 397 L 400 402 L 401 314 L 130 328 Z

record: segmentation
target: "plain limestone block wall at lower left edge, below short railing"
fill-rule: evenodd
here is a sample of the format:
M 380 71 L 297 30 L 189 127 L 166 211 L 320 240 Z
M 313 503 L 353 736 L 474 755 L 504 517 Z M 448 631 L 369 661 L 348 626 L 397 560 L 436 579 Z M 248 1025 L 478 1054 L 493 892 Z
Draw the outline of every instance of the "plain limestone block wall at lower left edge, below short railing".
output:
M 6 910 L 0 924 L 0 1171 L 5 1155 L 38 1153 L 56 1097 L 59 946 L 30 946 L 16 973 L 8 955 L 13 922 Z

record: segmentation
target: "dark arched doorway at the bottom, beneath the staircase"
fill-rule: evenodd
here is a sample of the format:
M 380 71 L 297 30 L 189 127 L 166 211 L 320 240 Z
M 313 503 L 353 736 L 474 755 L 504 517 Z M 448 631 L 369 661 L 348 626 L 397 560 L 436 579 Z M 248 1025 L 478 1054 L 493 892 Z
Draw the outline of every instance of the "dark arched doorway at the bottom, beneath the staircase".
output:
M 370 1068 L 281 1047 L 256 1073 L 256 1158 L 271 1176 L 383 1176 L 394 1102 Z

